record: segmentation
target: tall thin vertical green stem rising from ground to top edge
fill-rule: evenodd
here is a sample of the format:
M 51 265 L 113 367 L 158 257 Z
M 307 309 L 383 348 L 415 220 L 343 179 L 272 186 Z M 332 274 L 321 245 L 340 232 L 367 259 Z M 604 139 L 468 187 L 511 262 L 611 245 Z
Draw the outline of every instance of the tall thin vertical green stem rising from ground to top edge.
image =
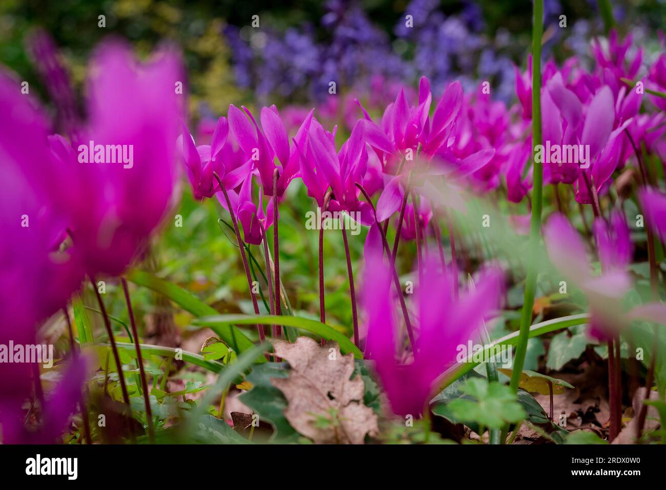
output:
M 534 19 L 532 29 L 532 144 L 536 148 L 541 144 L 541 36 L 543 35 L 543 0 L 534 0 Z M 541 194 L 543 193 L 543 166 L 533 158 L 533 194 L 532 216 L 529 226 L 529 264 L 525 282 L 525 298 L 520 323 L 520 335 L 515 350 L 511 389 L 518 391 L 520 373 L 525 364 L 529 324 L 532 320 L 532 307 L 537 282 L 537 252 L 541 238 Z

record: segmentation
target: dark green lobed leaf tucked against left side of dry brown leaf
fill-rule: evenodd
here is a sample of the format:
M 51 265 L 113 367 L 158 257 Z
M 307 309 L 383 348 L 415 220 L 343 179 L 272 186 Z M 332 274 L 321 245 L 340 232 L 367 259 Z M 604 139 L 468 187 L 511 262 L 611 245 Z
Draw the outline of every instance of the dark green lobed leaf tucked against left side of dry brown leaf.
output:
M 240 401 L 258 413 L 260 419 L 268 421 L 275 429 L 272 441 L 280 443 L 296 443 L 300 435 L 294 430 L 286 417 L 284 410 L 288 403 L 282 391 L 270 382 L 274 377 L 288 377 L 289 369 L 286 362 L 268 362 L 254 366 L 246 380 L 252 383 L 252 389 L 238 397 Z

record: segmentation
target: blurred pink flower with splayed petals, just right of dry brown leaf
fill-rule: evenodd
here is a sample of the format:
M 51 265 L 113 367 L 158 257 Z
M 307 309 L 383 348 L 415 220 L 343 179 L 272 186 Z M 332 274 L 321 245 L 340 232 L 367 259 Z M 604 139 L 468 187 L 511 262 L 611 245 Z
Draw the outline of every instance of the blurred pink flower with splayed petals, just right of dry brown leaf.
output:
M 374 225 L 376 226 L 376 225 Z M 394 318 L 391 273 L 380 248 L 366 247 L 364 304 L 368 335 L 366 358 L 374 360 L 391 409 L 397 415 L 418 417 L 434 389 L 434 381 L 456 359 L 458 346 L 475 336 L 484 318 L 500 304 L 501 275 L 489 272 L 476 292 L 454 299 L 450 278 L 434 262 L 425 268 L 424 287 L 418 295 L 416 354 L 396 353 L 398 330 Z M 373 250 L 374 249 L 374 250 Z

